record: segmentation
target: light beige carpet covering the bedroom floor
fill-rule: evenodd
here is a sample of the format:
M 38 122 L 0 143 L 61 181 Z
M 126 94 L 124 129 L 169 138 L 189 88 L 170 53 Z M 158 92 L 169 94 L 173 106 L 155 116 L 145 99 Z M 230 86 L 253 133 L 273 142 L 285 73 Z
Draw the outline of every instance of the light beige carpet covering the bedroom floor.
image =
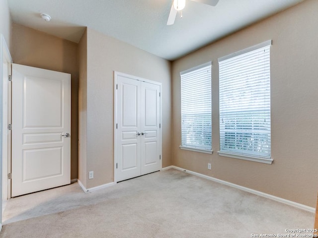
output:
M 248 238 L 313 228 L 314 214 L 170 169 L 12 198 L 3 224 L 1 238 Z

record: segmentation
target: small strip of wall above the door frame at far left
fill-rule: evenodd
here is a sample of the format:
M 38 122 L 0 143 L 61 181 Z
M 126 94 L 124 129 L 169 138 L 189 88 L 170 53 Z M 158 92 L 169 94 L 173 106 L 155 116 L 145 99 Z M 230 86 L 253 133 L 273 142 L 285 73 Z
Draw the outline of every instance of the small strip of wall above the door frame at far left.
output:
M 7 47 L 11 49 L 11 17 L 7 0 L 0 0 L 0 34 L 4 36 Z

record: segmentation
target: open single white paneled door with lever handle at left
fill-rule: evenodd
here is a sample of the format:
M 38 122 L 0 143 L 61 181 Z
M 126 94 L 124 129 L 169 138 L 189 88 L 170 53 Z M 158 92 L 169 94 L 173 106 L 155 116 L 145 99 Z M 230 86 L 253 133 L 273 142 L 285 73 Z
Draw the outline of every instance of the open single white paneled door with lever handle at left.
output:
M 71 75 L 12 64 L 11 196 L 71 182 Z

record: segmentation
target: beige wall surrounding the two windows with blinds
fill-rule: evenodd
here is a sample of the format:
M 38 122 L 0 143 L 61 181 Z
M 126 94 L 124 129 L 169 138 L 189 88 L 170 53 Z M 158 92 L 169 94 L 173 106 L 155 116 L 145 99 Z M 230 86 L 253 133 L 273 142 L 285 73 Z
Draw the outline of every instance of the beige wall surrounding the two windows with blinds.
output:
M 318 190 L 318 1 L 306 0 L 172 64 L 172 164 L 311 207 Z M 220 157 L 218 58 L 272 40 L 272 165 Z M 180 150 L 179 72 L 213 61 L 213 155 Z M 212 170 L 207 164 L 212 163 Z

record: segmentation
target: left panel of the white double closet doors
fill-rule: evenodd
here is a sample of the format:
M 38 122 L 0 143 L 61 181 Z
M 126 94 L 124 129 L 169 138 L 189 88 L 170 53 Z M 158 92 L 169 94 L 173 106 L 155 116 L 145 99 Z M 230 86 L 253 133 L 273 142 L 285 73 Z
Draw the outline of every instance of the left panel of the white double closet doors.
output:
M 140 81 L 117 77 L 117 181 L 141 175 Z

